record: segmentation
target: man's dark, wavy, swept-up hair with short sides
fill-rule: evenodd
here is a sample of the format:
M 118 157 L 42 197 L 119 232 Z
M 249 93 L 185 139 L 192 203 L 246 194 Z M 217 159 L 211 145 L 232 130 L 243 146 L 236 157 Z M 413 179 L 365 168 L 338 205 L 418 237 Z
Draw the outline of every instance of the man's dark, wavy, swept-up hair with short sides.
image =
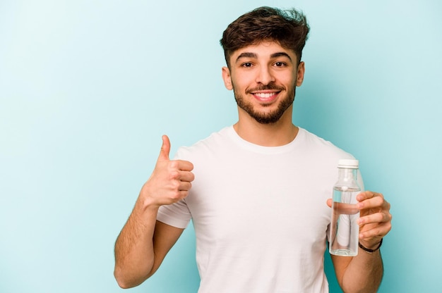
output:
M 222 33 L 220 44 L 229 67 L 229 59 L 234 51 L 265 41 L 277 42 L 285 49 L 292 49 L 299 63 L 309 30 L 306 16 L 301 11 L 263 6 L 230 23 Z

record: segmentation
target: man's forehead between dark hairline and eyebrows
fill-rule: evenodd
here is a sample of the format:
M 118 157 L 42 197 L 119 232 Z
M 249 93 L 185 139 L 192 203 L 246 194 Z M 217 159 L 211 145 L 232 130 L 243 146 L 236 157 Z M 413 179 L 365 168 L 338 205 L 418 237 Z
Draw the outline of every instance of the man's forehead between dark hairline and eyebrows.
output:
M 252 44 L 249 46 L 244 46 L 237 51 L 234 51 L 230 56 L 230 61 L 235 63 L 238 58 L 242 56 L 252 57 L 252 58 L 273 58 L 274 56 L 282 56 L 279 53 L 285 53 L 296 62 L 296 54 L 292 49 L 287 49 L 282 47 L 277 42 L 261 42 L 258 44 Z

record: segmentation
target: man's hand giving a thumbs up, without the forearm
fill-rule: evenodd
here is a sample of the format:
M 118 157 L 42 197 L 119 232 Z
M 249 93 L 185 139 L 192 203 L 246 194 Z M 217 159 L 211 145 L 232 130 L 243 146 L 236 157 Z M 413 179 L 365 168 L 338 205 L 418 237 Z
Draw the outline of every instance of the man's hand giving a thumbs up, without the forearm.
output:
M 195 178 L 191 172 L 193 164 L 183 160 L 171 161 L 169 152 L 169 137 L 163 135 L 155 169 L 141 189 L 139 199 L 143 200 L 143 204 L 159 207 L 174 204 L 189 195 Z

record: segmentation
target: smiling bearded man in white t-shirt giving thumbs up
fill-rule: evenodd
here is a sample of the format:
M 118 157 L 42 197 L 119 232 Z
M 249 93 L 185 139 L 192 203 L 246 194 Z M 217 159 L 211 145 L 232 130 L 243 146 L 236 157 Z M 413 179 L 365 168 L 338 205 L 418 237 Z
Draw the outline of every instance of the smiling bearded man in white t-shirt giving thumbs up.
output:
M 181 147 L 174 161 L 162 137 L 153 174 L 115 244 L 121 287 L 153 275 L 192 219 L 199 292 L 328 292 L 328 198 L 338 160 L 352 156 L 292 124 L 308 32 L 301 13 L 268 7 L 227 27 L 222 77 L 234 91 L 238 122 Z M 374 251 L 332 260 L 345 292 L 375 292 L 390 205 L 376 192 L 357 199 L 359 243 Z

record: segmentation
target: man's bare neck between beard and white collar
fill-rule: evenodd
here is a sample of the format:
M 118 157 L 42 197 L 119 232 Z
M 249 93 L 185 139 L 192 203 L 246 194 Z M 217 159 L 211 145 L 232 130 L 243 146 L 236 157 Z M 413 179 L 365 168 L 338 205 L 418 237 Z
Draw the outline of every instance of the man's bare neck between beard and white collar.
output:
M 292 106 L 285 111 L 276 123 L 261 124 L 247 113 L 241 113 L 239 120 L 233 125 L 239 137 L 260 146 L 283 146 L 289 144 L 298 134 L 298 127 L 292 123 Z

